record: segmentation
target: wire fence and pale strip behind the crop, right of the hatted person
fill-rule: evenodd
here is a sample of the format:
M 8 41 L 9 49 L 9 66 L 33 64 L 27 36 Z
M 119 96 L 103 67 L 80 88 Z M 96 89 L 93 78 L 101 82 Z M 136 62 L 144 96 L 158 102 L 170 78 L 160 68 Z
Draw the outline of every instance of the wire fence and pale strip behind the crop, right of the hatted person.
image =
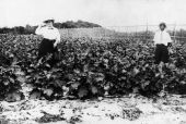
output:
M 132 26 L 105 26 L 93 28 L 62 28 L 62 37 L 91 37 L 91 38 L 144 38 L 152 39 L 159 25 L 132 25 Z M 186 41 L 186 24 L 167 24 L 166 30 L 174 41 Z

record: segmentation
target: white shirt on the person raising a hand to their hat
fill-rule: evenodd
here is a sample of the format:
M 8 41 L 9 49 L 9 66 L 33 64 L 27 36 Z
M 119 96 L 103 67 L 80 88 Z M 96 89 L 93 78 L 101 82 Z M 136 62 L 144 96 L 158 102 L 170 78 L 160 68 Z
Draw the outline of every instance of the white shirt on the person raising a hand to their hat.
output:
M 37 29 L 35 30 L 35 34 L 42 35 L 46 39 L 56 40 L 58 42 L 60 41 L 60 34 L 56 27 L 38 26 Z

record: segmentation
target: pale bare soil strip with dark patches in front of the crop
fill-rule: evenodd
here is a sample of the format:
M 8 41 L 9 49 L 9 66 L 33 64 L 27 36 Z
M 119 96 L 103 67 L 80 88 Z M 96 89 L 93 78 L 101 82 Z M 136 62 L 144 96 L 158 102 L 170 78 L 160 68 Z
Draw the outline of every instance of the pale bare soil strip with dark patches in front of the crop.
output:
M 186 124 L 186 97 L 1 101 L 0 124 Z

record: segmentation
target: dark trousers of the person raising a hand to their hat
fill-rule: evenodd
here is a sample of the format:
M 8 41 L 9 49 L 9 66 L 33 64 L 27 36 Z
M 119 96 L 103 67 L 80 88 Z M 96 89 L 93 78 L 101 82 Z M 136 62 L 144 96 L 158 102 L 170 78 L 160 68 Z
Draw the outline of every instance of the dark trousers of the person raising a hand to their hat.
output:
M 48 53 L 51 53 L 53 57 L 51 59 L 48 61 L 48 63 L 50 64 L 50 66 L 54 66 L 57 62 L 57 60 L 55 59 L 55 53 L 58 52 L 57 48 L 54 47 L 56 40 L 49 40 L 49 39 L 43 39 L 40 45 L 39 45 L 39 49 L 38 49 L 38 60 L 42 59 L 43 57 L 47 55 Z

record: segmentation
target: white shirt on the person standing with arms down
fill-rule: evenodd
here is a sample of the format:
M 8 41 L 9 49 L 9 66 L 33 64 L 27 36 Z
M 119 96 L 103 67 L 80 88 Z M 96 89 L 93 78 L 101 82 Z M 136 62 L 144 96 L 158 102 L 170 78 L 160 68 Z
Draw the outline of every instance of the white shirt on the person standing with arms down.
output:
M 165 46 L 167 46 L 167 42 L 172 42 L 171 36 L 168 33 L 166 33 L 165 30 L 159 30 L 155 33 L 154 35 L 154 39 L 153 39 L 154 44 L 163 44 Z

